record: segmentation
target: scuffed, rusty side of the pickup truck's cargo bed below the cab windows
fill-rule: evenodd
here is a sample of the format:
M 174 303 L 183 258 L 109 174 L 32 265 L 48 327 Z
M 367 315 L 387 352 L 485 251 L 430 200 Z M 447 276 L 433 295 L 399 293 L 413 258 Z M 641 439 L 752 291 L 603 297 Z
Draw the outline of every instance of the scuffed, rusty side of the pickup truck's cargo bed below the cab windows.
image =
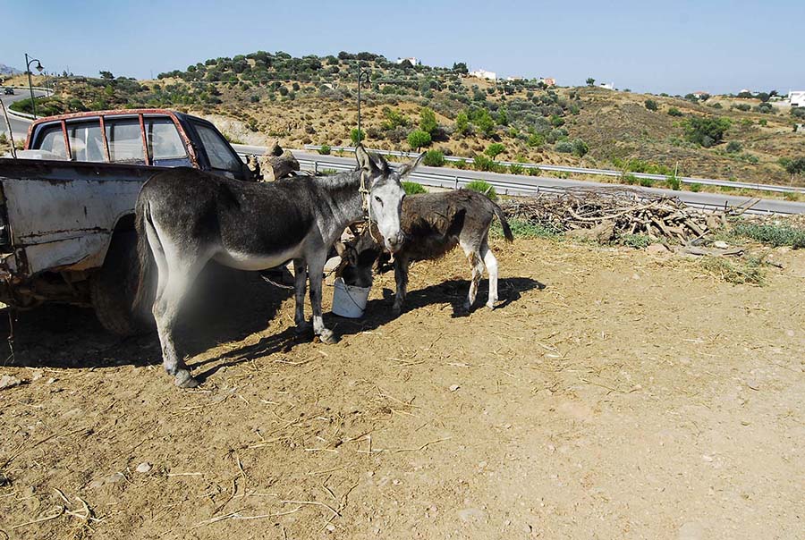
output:
M 12 274 L 98 266 L 110 233 L 133 213 L 140 186 L 163 167 L 0 158 L 4 235 Z M 24 255 L 22 252 L 24 251 Z

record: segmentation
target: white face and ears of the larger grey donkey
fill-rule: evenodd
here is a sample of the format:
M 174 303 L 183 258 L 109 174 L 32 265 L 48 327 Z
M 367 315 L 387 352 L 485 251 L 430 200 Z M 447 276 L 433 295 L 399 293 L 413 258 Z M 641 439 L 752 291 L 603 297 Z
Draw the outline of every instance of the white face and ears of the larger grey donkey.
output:
M 382 156 L 369 154 L 362 146 L 356 149 L 355 155 L 358 158 L 358 165 L 372 179 L 369 192 L 371 219 L 377 224 L 377 229 L 383 236 L 385 248 L 394 253 L 402 248 L 404 240 L 400 214 L 405 190 L 402 189 L 401 181 L 419 165 L 424 154 L 402 165 L 398 171 L 394 171 Z

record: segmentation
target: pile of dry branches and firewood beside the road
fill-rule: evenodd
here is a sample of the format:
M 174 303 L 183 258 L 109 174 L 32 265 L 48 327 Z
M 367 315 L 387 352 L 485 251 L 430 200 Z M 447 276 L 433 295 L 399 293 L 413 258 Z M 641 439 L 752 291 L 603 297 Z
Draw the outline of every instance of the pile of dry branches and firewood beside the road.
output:
M 628 188 L 580 188 L 559 194 L 513 198 L 505 214 L 556 232 L 590 240 L 640 234 L 652 241 L 688 243 L 726 223 L 730 212 L 704 212 L 678 198 Z

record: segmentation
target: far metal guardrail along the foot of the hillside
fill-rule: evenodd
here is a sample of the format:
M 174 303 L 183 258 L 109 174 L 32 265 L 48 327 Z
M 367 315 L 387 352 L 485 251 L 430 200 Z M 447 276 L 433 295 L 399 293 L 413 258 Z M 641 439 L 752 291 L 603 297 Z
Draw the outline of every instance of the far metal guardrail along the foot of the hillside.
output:
M 321 149 L 319 145 L 305 145 L 306 150 L 311 151 L 318 151 Z M 330 147 L 330 151 L 333 152 L 354 152 L 354 147 Z M 416 157 L 419 154 L 415 152 L 402 152 L 399 150 L 375 150 L 373 149 L 372 152 L 376 152 L 377 154 L 382 154 L 383 156 L 395 156 L 395 157 Z M 463 161 L 467 165 L 472 164 L 472 160 L 467 157 L 459 157 L 459 156 L 445 156 L 445 161 L 449 161 L 452 163 L 461 162 Z M 620 171 L 613 171 L 609 169 L 589 169 L 585 167 L 569 167 L 564 165 L 546 165 L 546 164 L 536 164 L 536 163 L 518 163 L 513 161 L 496 161 L 498 165 L 504 165 L 506 167 L 511 165 L 520 165 L 523 169 L 539 169 L 540 171 L 553 171 L 557 173 L 576 173 L 576 174 L 595 174 L 597 176 L 616 176 L 621 177 L 623 173 Z M 635 178 L 645 178 L 648 180 L 665 180 L 667 176 L 665 174 L 650 174 L 650 173 L 628 173 L 634 176 Z M 723 187 L 723 188 L 735 188 L 735 189 L 745 189 L 745 190 L 760 190 L 760 191 L 775 191 L 777 193 L 805 193 L 805 188 L 798 188 L 798 187 L 785 187 L 785 186 L 775 186 L 771 184 L 761 184 L 761 183 L 752 183 L 752 182 L 744 182 L 744 181 L 724 181 L 724 180 L 716 180 L 712 178 L 693 178 L 687 176 L 680 176 L 679 181 L 685 184 L 701 184 L 703 186 L 716 186 L 716 187 Z

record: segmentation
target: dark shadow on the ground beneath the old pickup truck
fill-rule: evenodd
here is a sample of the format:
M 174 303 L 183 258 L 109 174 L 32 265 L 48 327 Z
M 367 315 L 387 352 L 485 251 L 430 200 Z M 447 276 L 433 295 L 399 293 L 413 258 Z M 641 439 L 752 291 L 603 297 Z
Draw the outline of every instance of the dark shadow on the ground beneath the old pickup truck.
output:
M 217 268 L 188 298 L 177 340 L 190 356 L 221 342 L 241 340 L 265 329 L 291 295 L 292 291 L 265 283 L 257 273 Z M 162 361 L 156 332 L 116 336 L 106 332 L 87 308 L 0 309 L 0 333 L 10 338 L 5 350 L 0 342 L 0 365 L 5 366 L 142 366 Z

